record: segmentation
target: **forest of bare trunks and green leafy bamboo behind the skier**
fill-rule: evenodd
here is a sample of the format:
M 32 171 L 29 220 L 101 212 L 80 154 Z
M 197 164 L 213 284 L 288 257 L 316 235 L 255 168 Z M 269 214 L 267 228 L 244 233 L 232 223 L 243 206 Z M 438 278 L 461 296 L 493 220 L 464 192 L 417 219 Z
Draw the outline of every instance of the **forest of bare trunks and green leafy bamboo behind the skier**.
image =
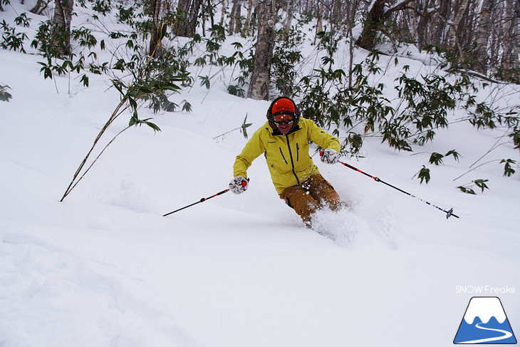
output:
M 0 10 L 9 1 L 1 0 Z M 159 130 L 149 118 L 139 119 L 141 105 L 147 103 L 154 113 L 175 111 L 181 105 L 168 100 L 167 93 L 196 81 L 210 89 L 225 75 L 225 68 L 233 67 L 226 83 L 228 93 L 255 100 L 278 95 L 294 98 L 307 118 L 332 127 L 343 140 L 345 154 L 358 155 L 367 137 L 412 151 L 412 145 L 433 141 L 436 130 L 447 128 L 448 112 L 455 108 L 467 110 L 457 122 L 468 121 L 477 129 L 504 127 L 504 138 L 517 148 L 520 145 L 518 103 L 497 103 L 504 85 L 520 83 L 520 1 L 38 0 L 24 4 L 22 0 L 22 4 L 32 14 L 48 18 L 41 21 L 30 43 L 44 58 L 39 62 L 44 78 L 76 73 L 76 79 L 88 86 L 88 73 L 105 74 L 120 92 L 121 102 L 105 130 L 124 110 L 132 112 L 130 126 L 146 124 Z M 71 26 L 75 11 L 88 6 L 93 14 L 87 20 L 97 29 Z M 108 29 L 100 21 L 100 16 L 111 12 L 123 25 L 121 30 Z M 30 22 L 25 12 L 14 23 L 3 20 L 1 47 L 26 53 L 29 39 L 19 28 Z M 309 36 L 316 46 L 311 55 L 302 52 Z M 236 51 L 224 55 L 220 51 L 224 41 L 237 37 L 242 40 L 232 43 Z M 201 46 L 205 52 L 197 56 L 194 50 Z M 345 47 L 348 62 L 335 61 Z M 354 51 L 359 48 L 369 54 L 356 62 Z M 108 51 L 110 61 L 101 61 L 96 49 Z M 388 66 L 378 64 L 380 54 L 395 56 L 397 66 L 399 56 L 413 53 L 426 53 L 430 65 L 437 68 L 410 76 L 405 65 L 390 87 L 370 78 L 390 73 Z M 301 68 L 318 55 L 311 71 Z M 204 66 L 218 69 L 211 76 L 202 75 Z M 0 81 L 0 87 L 2 100 L 9 100 L 9 86 Z M 397 95 L 390 100 L 392 87 Z M 489 88 L 489 98 L 477 100 L 475 92 L 483 88 Z M 187 100 L 182 101 L 182 110 L 191 110 Z M 240 127 L 244 132 L 246 124 L 244 120 Z M 457 160 L 459 154 L 457 150 L 433 152 L 429 162 L 438 165 L 447 155 Z M 514 173 L 511 165 L 516 160 L 501 158 L 500 163 L 504 175 Z M 417 177 L 427 183 L 429 169 L 423 167 Z M 479 187 L 482 184 L 477 182 Z

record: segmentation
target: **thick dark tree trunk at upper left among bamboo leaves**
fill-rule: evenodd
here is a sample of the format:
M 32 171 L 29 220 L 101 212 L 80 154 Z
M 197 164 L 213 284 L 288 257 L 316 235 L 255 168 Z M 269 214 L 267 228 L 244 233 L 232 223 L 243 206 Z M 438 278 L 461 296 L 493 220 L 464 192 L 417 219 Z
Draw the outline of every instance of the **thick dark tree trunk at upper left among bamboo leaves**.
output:
M 53 36 L 53 46 L 61 56 L 69 56 L 72 53 L 71 47 L 71 20 L 73 0 L 55 0 L 55 9 L 52 19 L 51 33 Z

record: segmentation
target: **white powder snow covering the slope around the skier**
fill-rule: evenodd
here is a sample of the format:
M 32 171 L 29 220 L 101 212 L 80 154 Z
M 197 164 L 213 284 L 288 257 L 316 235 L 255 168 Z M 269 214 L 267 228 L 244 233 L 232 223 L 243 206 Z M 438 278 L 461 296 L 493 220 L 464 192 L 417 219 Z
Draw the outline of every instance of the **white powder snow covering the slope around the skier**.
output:
M 14 16 L 13 7 L 0 13 Z M 31 28 L 18 28 L 30 37 L 45 19 L 31 16 Z M 68 93 L 68 77 L 44 80 L 37 61 L 0 51 L 0 84 L 13 95 L 0 102 L 1 347 L 448 346 L 475 295 L 457 286 L 477 285 L 513 289 L 479 296 L 499 296 L 520 331 L 520 173 L 503 177 L 495 163 L 454 181 L 503 130 L 459 123 L 415 148 L 462 155 L 441 166 L 375 138 L 365 140 L 365 158 L 342 158 L 453 207 L 459 219 L 317 156 L 352 205 L 316 216 L 315 229 L 336 241 L 303 227 L 276 195 L 263 157 L 244 194 L 162 217 L 227 189 L 246 139 L 239 131 L 214 138 L 246 113 L 249 133 L 265 122 L 268 101 L 234 97 L 218 81 L 208 92 L 196 81 L 171 98 L 188 100 L 192 113 L 142 108 L 140 118 L 154 117 L 162 131 L 123 133 L 59 202 L 120 99 L 104 76 L 90 76 L 88 88 L 72 76 Z M 509 97 L 518 103 L 518 95 Z M 506 144 L 489 157 L 519 160 L 519 152 Z M 425 164 L 432 180 L 420 185 L 412 177 Z M 479 178 L 489 179 L 489 190 L 455 188 Z

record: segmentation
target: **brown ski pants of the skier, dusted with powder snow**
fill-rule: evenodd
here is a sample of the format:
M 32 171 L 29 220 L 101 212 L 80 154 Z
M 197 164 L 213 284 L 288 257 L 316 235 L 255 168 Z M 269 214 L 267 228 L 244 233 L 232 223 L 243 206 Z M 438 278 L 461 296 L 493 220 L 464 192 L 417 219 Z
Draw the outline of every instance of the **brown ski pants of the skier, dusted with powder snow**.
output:
M 334 211 L 346 206 L 333 186 L 320 174 L 312 175 L 301 185 L 286 188 L 280 199 L 296 211 L 307 227 L 311 227 L 312 214 L 322 206 L 327 205 Z

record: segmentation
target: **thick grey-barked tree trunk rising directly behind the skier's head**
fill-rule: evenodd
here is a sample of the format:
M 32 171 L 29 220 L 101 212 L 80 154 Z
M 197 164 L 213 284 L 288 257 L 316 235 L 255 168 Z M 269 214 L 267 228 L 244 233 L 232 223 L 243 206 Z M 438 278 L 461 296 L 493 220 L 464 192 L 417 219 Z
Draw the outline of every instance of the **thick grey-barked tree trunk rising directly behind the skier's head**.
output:
M 253 72 L 247 97 L 254 100 L 269 100 L 269 81 L 273 62 L 274 25 L 276 24 L 276 0 L 264 0 L 259 3 L 258 35 L 253 58 Z

